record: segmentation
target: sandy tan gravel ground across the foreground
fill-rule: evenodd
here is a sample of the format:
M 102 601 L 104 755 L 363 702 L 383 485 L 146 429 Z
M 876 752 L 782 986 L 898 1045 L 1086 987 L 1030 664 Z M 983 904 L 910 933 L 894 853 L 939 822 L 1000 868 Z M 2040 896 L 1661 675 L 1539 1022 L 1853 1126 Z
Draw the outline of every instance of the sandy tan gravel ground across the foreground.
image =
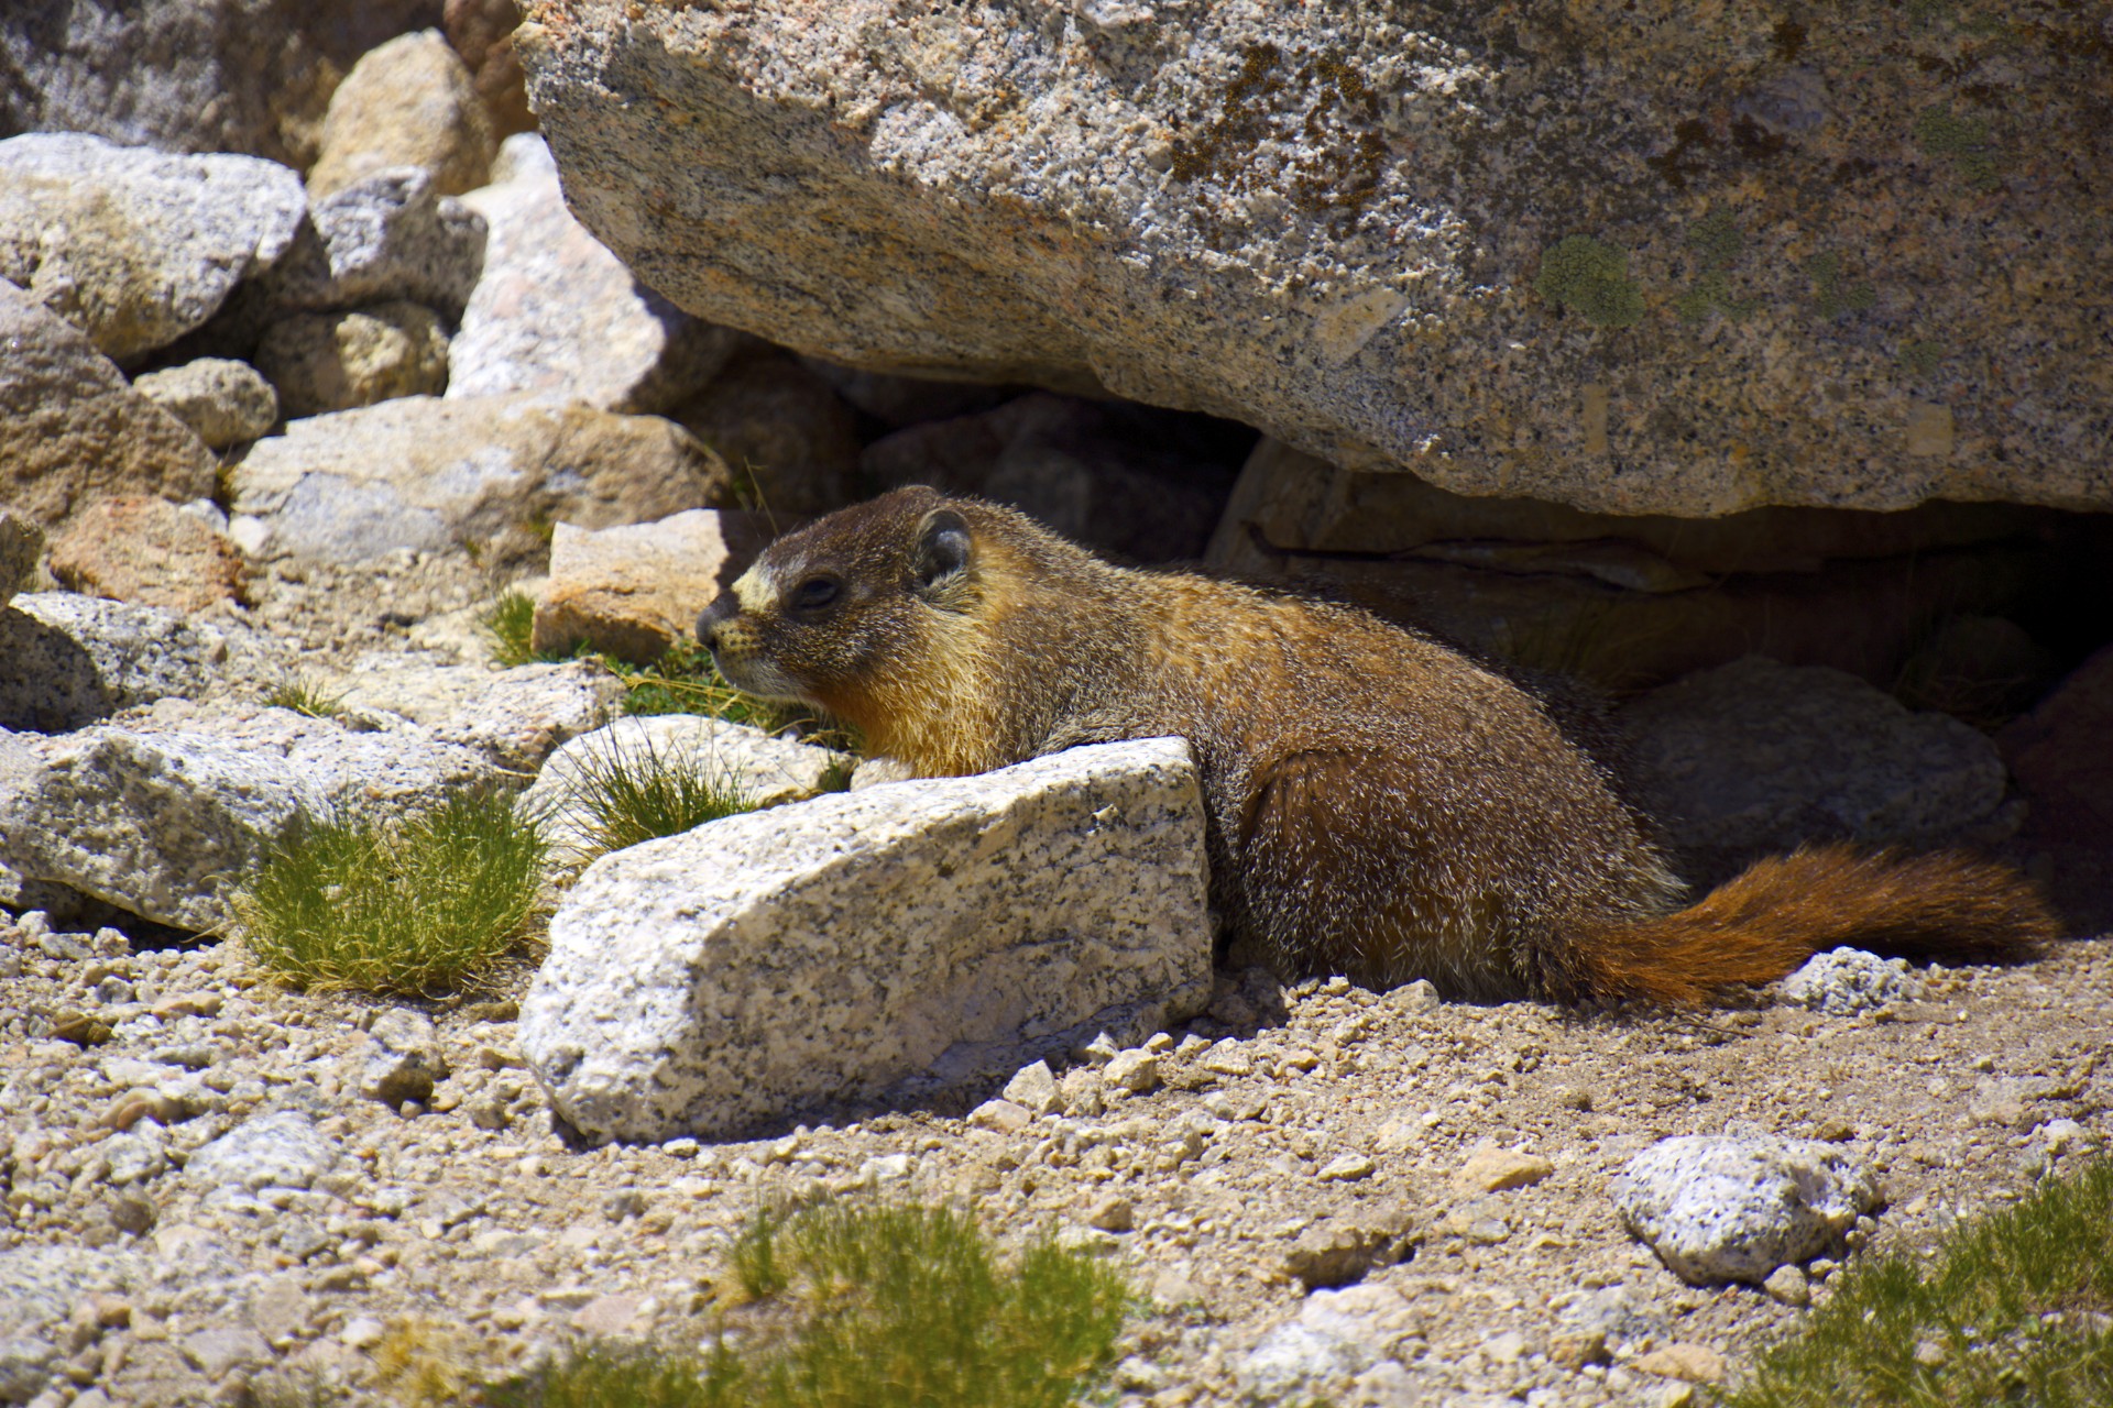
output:
M 1688 1288 L 1625 1235 L 1606 1184 L 1652 1140 L 1847 1144 L 1889 1197 L 1851 1235 L 1868 1254 L 1929 1245 L 2113 1131 L 2107 939 L 1931 971 L 1855 1017 L 1428 1005 L 1342 979 L 1278 998 L 1228 975 L 1154 1060 L 1059 1072 L 1071 1112 L 818 1110 L 752 1142 L 596 1150 L 554 1131 L 503 998 L 435 1011 L 450 1074 L 389 1108 L 359 1093 L 387 1007 L 260 984 L 226 944 L 127 948 L 0 929 L 0 1309 L 42 1286 L 57 1315 L 15 1340 L 0 1319 L 0 1383 L 44 1345 L 53 1406 L 243 1402 L 287 1366 L 410 1402 L 382 1366 L 420 1340 L 486 1370 L 581 1334 L 695 1345 L 744 1218 L 868 1191 L 1105 1248 L 1149 1292 L 1122 1404 L 1278 1402 L 1283 1374 L 1329 1368 L 1340 1404 L 1678 1404 L 1690 1389 L 1652 1370 L 1735 1372 L 1800 1311 Z M 258 1193 L 186 1172 L 268 1112 L 313 1121 L 334 1167 Z M 1540 1174 L 1504 1150 L 1549 1167 L 1492 1193 Z M 1308 1296 L 1295 1273 L 1384 1233 L 1407 1260 Z M 1251 1355 L 1291 1319 L 1316 1334 Z

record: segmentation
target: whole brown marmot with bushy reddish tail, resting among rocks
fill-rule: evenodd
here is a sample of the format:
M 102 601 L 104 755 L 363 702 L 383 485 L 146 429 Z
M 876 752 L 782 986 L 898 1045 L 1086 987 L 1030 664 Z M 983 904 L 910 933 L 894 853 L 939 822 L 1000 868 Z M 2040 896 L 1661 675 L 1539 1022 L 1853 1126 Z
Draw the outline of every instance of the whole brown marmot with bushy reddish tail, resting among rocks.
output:
M 1551 703 L 1352 606 L 1107 564 L 1029 517 L 896 490 L 786 534 L 699 619 L 737 688 L 919 777 L 1181 735 L 1213 906 L 1283 975 L 1469 1001 L 1697 1003 L 1836 944 L 2022 952 L 2014 870 L 1817 846 L 1699 903 Z

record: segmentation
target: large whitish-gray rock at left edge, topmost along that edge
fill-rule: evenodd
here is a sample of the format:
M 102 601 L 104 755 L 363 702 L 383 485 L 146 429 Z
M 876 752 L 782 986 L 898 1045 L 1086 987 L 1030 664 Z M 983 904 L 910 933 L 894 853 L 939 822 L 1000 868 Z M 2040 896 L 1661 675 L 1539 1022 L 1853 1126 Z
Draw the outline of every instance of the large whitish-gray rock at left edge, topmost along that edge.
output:
M 0 279 L 116 361 L 175 342 L 285 253 L 300 175 L 256 156 L 171 156 L 80 133 L 0 141 Z

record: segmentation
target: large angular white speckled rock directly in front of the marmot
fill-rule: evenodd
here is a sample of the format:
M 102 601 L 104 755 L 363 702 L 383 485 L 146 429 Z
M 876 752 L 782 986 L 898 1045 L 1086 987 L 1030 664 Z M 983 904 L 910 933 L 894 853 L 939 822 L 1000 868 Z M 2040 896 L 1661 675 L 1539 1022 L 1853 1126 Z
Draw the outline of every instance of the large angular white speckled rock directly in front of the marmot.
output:
M 606 855 L 551 920 L 520 1045 L 585 1138 L 666 1140 L 1012 1072 L 1209 996 L 1196 768 L 1147 739 Z

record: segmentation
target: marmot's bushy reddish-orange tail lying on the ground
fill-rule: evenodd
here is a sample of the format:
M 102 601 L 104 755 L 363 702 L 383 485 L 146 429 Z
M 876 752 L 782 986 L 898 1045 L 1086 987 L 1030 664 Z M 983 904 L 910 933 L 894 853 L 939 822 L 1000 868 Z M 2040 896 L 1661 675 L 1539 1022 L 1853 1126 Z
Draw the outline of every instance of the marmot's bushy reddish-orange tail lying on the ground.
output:
M 1693 1005 L 1724 984 L 1773 982 L 1830 948 L 1965 963 L 2020 956 L 2058 931 L 2009 865 L 1957 851 L 1805 846 L 1686 910 L 1578 935 L 1576 958 L 1591 994 Z

